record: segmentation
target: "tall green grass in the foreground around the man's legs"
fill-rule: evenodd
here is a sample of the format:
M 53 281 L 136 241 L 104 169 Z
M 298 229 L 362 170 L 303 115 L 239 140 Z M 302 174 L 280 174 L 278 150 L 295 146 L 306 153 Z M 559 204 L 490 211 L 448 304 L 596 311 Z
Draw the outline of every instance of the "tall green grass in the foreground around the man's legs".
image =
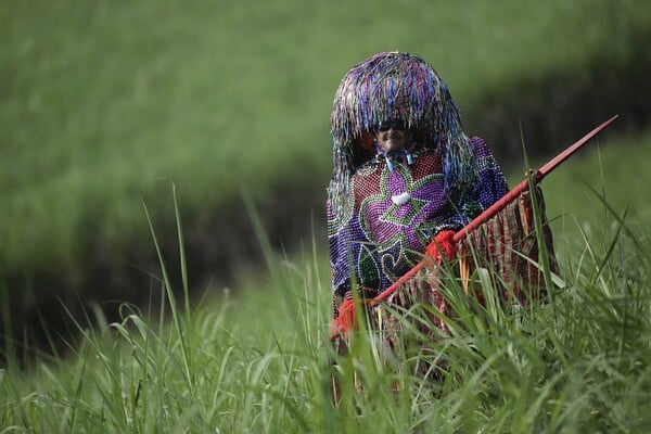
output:
M 237 297 L 212 292 L 183 310 L 163 282 L 173 321 L 125 306 L 122 322 L 85 330 L 73 354 L 38 356 L 28 371 L 11 363 L 0 370 L 0 426 L 102 433 L 646 432 L 651 250 L 644 221 L 651 202 L 647 171 L 634 181 L 621 177 L 620 167 L 643 166 L 649 143 L 647 136 L 616 149 L 588 148 L 545 180 L 550 217 L 562 209 L 575 218 L 554 229 L 565 288 L 548 303 L 508 312 L 499 305 L 473 305 L 454 284 L 447 288 L 456 316 L 447 319 L 450 333 L 434 344 L 449 370 L 437 382 L 407 369 L 387 370 L 362 335 L 355 357 L 339 360 L 344 395 L 335 409 L 328 393 L 324 252 L 315 242 L 288 260 L 263 237 L 268 270 L 243 275 Z M 635 207 L 623 218 L 627 202 Z M 572 225 L 586 237 L 573 239 Z M 588 237 L 591 230 L 595 237 Z M 489 284 L 480 288 L 492 291 Z M 432 356 L 417 348 L 409 357 L 406 367 Z M 350 386 L 353 372 L 365 384 L 363 399 Z M 388 392 L 394 382 L 403 384 L 396 395 Z

